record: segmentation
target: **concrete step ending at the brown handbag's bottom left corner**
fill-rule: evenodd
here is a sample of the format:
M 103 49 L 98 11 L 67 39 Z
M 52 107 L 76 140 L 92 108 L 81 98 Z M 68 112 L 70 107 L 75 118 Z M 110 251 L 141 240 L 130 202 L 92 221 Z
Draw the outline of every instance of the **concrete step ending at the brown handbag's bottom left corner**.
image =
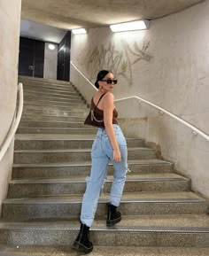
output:
M 84 116 L 84 114 L 81 114 Z M 86 128 L 82 122 L 21 120 L 19 128 Z

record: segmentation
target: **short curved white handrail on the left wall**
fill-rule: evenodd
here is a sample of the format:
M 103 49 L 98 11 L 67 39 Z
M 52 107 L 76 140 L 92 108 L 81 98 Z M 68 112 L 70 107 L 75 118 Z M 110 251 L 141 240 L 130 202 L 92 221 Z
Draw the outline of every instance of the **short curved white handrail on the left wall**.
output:
M 8 150 L 8 148 L 9 148 L 11 142 L 12 142 L 13 136 L 16 133 L 16 130 L 19 126 L 19 121 L 21 119 L 22 110 L 23 110 L 23 88 L 22 88 L 22 83 L 21 82 L 19 82 L 18 91 L 19 91 L 18 113 L 17 113 L 17 116 L 14 113 L 14 117 L 13 117 L 13 120 L 12 120 L 12 127 L 10 128 L 7 135 L 5 136 L 4 142 L 3 142 L 2 146 L 0 147 L 0 162 L 4 158 L 4 154 Z

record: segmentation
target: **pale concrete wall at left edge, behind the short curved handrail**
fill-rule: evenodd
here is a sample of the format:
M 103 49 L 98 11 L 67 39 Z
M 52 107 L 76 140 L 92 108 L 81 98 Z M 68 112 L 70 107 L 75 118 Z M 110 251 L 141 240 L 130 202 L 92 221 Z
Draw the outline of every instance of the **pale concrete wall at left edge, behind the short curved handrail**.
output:
M 0 0 L 0 145 L 11 126 L 16 106 L 20 8 L 20 0 Z M 0 206 L 11 178 L 12 158 L 13 144 L 0 162 Z

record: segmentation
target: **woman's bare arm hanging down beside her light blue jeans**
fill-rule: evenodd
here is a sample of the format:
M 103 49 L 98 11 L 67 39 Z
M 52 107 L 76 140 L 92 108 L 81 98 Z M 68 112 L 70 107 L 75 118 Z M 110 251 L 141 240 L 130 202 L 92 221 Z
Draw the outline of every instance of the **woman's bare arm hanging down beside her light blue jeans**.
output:
M 112 144 L 113 149 L 113 160 L 120 162 L 121 155 L 118 142 L 112 126 L 112 115 L 114 110 L 114 96 L 112 93 L 106 93 L 103 100 L 103 111 L 104 111 L 104 127 L 107 135 Z

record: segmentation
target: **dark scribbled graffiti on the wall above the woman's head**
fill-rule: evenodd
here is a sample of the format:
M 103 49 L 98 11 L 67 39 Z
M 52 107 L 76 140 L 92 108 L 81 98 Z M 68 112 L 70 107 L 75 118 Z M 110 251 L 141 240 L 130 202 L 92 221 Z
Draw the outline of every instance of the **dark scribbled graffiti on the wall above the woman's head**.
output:
M 147 53 L 150 42 L 143 43 L 140 48 L 135 42 L 132 47 L 125 41 L 121 41 L 122 50 L 118 50 L 114 43 L 108 46 L 96 46 L 90 50 L 84 60 L 84 66 L 89 74 L 89 80 L 95 78 L 95 74 L 101 69 L 112 70 L 116 77 L 123 76 L 132 85 L 132 66 L 139 61 L 151 62 L 151 55 Z

